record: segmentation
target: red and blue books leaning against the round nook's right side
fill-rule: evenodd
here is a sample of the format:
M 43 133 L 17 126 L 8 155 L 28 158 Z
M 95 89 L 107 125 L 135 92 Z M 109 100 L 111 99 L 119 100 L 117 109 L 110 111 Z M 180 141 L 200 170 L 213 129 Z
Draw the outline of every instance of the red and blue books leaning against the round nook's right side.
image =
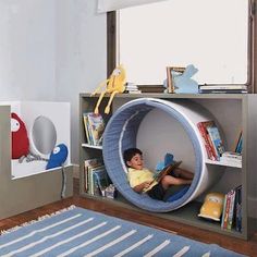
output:
M 219 161 L 224 152 L 224 146 L 215 121 L 198 122 L 197 127 L 205 144 L 208 159 Z

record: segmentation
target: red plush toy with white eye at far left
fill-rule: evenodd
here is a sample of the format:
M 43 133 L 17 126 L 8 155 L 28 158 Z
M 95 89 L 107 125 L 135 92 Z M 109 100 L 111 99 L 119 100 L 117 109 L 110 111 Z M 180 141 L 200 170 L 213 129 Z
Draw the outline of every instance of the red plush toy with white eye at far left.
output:
M 14 112 L 11 113 L 12 132 L 12 159 L 20 159 L 29 152 L 27 130 L 22 119 Z

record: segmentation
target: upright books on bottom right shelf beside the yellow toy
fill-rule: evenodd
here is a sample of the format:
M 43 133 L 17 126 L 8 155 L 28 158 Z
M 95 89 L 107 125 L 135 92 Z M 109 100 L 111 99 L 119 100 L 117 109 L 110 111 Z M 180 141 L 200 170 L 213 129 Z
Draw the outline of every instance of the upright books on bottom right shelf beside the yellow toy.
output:
M 242 185 L 225 194 L 221 228 L 242 232 Z

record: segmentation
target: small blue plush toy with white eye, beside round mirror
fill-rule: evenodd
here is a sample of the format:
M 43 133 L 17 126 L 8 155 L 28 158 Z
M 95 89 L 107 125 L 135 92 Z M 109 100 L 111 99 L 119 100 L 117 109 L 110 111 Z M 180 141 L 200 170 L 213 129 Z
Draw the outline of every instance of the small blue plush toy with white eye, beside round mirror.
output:
M 68 157 L 68 147 L 64 144 L 59 144 L 52 150 L 46 169 L 62 167 Z

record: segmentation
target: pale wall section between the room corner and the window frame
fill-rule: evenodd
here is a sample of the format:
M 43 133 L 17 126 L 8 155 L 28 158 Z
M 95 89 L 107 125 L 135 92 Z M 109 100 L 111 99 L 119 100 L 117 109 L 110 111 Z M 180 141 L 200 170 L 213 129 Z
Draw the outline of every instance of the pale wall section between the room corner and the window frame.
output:
M 106 79 L 106 14 L 95 0 L 57 0 L 57 99 L 72 106 L 72 160 L 78 163 L 78 94 Z

